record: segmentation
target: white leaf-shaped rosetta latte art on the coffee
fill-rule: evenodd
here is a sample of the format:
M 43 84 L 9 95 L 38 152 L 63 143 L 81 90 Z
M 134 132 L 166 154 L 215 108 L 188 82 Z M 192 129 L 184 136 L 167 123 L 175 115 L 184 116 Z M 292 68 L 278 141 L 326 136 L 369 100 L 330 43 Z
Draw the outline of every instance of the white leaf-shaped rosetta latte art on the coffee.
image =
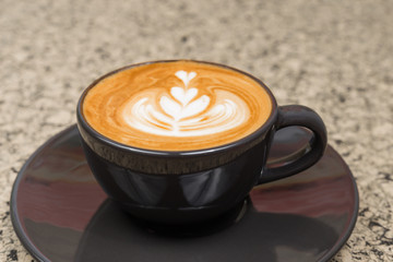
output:
M 223 132 L 248 120 L 249 108 L 239 96 L 219 88 L 200 94 L 191 83 L 195 72 L 180 70 L 175 75 L 183 86 L 164 94 L 139 93 L 124 106 L 124 122 L 146 133 L 184 138 Z

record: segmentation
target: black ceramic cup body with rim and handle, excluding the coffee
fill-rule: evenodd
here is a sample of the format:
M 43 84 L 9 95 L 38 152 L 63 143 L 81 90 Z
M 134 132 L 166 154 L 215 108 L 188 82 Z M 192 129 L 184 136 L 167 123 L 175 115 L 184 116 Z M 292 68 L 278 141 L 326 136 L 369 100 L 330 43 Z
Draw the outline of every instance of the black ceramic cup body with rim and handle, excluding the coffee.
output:
M 254 186 L 296 175 L 324 153 L 325 126 L 312 109 L 278 107 L 265 84 L 231 68 L 255 80 L 271 98 L 271 115 L 255 132 L 229 144 L 184 152 L 144 150 L 112 141 L 88 124 L 83 116 L 84 98 L 103 79 L 139 66 L 96 80 L 82 94 L 76 110 L 82 145 L 94 176 L 110 198 L 138 218 L 163 224 L 202 223 L 238 206 Z M 289 164 L 267 168 L 275 132 L 289 126 L 313 133 L 310 150 Z

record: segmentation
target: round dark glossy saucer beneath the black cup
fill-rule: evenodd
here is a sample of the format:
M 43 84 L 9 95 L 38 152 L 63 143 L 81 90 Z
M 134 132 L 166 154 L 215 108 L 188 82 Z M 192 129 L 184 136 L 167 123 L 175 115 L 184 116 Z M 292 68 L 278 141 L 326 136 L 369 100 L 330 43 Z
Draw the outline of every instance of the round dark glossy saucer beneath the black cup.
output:
M 302 129 L 282 130 L 270 164 L 296 158 L 308 139 Z M 326 261 L 355 226 L 358 193 L 350 170 L 329 146 L 315 166 L 255 187 L 245 203 L 198 236 L 157 234 L 107 199 L 73 126 L 22 168 L 11 215 L 38 261 Z

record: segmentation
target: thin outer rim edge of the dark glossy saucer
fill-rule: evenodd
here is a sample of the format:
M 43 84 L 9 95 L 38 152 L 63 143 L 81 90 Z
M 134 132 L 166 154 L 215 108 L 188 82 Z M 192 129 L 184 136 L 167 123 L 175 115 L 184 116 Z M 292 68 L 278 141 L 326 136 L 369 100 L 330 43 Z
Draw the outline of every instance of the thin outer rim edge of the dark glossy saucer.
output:
M 53 141 L 56 141 L 57 139 L 61 138 L 64 133 L 71 132 L 73 130 L 78 130 L 76 124 L 71 124 L 68 128 L 63 129 L 62 131 L 53 134 L 52 136 L 50 136 L 45 143 L 43 143 L 40 146 L 38 146 L 34 153 L 27 158 L 27 160 L 25 162 L 25 164 L 22 166 L 21 170 L 17 172 L 16 178 L 14 180 L 13 187 L 12 187 L 12 191 L 11 191 L 11 198 L 10 198 L 10 216 L 11 216 L 11 222 L 12 222 L 12 226 L 13 229 L 17 236 L 17 238 L 20 239 L 22 246 L 29 252 L 29 254 L 32 254 L 32 257 L 34 259 L 36 259 L 39 262 L 50 262 L 50 260 L 43 254 L 37 248 L 35 248 L 35 246 L 33 245 L 33 241 L 28 238 L 27 235 L 24 234 L 23 227 L 22 227 L 22 223 L 21 223 L 21 218 L 17 215 L 17 206 L 16 206 L 16 198 L 17 198 L 17 191 L 19 191 L 19 186 L 21 183 L 21 180 L 23 178 L 23 174 L 25 172 L 25 169 L 27 168 L 27 166 L 29 166 L 29 164 L 35 159 L 35 157 L 45 148 L 47 147 L 50 143 L 52 143 Z M 341 156 L 341 154 L 334 150 L 333 146 L 331 146 L 330 144 L 327 144 L 327 146 L 331 147 L 331 150 L 333 150 L 334 153 L 336 153 L 340 157 L 341 157 L 341 162 L 344 164 L 345 169 L 347 170 L 347 174 L 349 174 L 350 180 L 352 180 L 352 184 L 354 188 L 354 212 L 352 214 L 352 218 L 349 221 L 348 227 L 347 229 L 341 234 L 341 238 L 338 239 L 338 241 L 324 254 L 322 255 L 317 262 L 326 262 L 330 259 L 332 259 L 342 248 L 343 246 L 347 242 L 347 240 L 349 239 L 357 218 L 358 218 L 358 212 L 359 212 L 359 191 L 357 188 L 357 183 L 356 183 L 356 179 L 353 175 L 353 172 L 349 169 L 349 166 L 346 164 L 346 162 L 344 160 L 344 158 Z

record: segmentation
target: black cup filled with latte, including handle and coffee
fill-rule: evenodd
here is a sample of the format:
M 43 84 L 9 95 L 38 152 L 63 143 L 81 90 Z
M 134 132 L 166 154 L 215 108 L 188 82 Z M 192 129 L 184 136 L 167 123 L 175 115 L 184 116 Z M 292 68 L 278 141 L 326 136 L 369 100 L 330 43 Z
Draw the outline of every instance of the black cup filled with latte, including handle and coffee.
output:
M 87 163 L 106 193 L 134 217 L 201 223 L 238 206 L 259 184 L 317 163 L 326 130 L 312 109 L 278 107 L 257 78 L 227 66 L 166 60 L 112 71 L 76 109 Z M 277 130 L 312 132 L 309 151 L 267 167 Z

